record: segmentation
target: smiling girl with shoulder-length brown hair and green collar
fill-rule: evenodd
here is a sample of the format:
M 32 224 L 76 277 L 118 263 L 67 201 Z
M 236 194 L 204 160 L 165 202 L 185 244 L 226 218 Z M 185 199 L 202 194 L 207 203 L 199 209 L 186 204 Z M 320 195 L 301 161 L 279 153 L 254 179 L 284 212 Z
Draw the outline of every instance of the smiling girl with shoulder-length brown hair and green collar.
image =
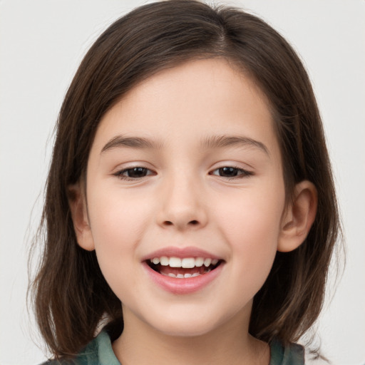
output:
M 42 223 L 49 364 L 304 364 L 339 219 L 299 58 L 229 7 L 123 16 L 66 94 Z

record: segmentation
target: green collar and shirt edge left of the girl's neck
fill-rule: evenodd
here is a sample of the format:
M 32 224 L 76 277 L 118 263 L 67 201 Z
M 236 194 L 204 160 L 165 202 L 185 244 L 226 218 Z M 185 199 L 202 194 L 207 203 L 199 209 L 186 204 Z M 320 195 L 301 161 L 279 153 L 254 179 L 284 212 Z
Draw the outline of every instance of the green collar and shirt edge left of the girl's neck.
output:
M 120 362 L 115 357 L 110 337 L 101 331 L 75 358 L 49 360 L 41 365 L 120 365 Z

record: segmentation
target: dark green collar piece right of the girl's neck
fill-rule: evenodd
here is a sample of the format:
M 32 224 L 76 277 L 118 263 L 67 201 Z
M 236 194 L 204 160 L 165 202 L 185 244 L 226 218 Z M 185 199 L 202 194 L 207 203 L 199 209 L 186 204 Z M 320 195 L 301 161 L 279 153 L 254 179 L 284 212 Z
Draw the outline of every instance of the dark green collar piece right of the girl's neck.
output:
M 270 343 L 269 365 L 304 365 L 304 347 L 299 344 L 284 346 L 278 339 Z

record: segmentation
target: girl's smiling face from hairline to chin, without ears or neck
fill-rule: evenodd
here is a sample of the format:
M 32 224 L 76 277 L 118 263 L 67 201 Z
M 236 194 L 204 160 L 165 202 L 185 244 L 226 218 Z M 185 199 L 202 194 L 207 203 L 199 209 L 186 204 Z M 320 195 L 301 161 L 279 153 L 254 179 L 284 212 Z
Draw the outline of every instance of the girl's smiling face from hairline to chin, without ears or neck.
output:
M 161 71 L 111 108 L 88 160 L 80 244 L 95 248 L 125 326 L 184 336 L 247 326 L 282 230 L 282 175 L 267 104 L 227 61 Z M 155 257 L 219 265 L 156 272 Z

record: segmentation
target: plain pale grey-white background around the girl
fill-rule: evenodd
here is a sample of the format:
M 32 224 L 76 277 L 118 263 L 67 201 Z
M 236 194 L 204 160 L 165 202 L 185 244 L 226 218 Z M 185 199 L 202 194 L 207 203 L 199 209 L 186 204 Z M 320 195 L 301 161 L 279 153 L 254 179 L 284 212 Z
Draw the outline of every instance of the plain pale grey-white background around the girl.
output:
M 1 365 L 45 359 L 26 309 L 26 257 L 63 96 L 101 31 L 145 2 L 0 0 Z M 346 269 L 324 306 L 318 334 L 334 364 L 365 364 L 365 1 L 222 2 L 267 20 L 299 51 L 312 78 L 347 245 Z

